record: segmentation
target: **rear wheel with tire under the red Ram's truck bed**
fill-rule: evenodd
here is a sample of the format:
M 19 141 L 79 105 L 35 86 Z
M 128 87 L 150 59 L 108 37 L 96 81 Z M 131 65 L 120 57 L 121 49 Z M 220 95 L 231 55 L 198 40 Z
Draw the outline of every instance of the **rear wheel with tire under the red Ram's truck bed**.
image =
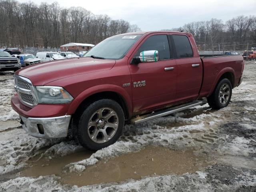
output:
M 218 82 L 213 93 L 207 98 L 208 104 L 213 109 L 221 109 L 228 106 L 232 96 L 230 80 L 222 79 Z

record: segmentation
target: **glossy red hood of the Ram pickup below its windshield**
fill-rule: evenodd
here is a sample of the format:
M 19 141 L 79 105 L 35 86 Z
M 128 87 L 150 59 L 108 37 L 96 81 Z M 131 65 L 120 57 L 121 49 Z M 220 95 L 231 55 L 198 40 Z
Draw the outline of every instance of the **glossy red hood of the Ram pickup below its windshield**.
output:
M 30 65 L 15 74 L 30 79 L 34 86 L 42 86 L 70 76 L 110 70 L 115 63 L 115 60 L 79 57 Z

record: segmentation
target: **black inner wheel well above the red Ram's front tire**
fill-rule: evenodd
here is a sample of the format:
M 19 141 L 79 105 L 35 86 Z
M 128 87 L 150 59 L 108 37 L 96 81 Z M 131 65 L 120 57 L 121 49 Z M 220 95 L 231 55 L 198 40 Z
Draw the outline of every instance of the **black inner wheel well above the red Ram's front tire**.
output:
M 78 110 L 80 110 L 80 108 L 82 108 L 84 105 L 86 105 L 88 103 L 93 103 L 94 101 L 100 100 L 100 99 L 112 99 L 112 100 L 118 102 L 118 104 L 120 104 L 120 106 L 122 107 L 122 109 L 124 111 L 125 119 L 129 118 L 128 108 L 127 108 L 127 105 L 126 105 L 126 102 L 124 101 L 124 99 L 118 93 L 111 92 L 111 91 L 99 92 L 99 93 L 96 93 L 96 94 L 93 94 L 93 95 L 89 96 L 88 98 L 86 98 L 85 100 L 83 100 L 80 103 L 80 105 L 76 109 L 76 112 Z

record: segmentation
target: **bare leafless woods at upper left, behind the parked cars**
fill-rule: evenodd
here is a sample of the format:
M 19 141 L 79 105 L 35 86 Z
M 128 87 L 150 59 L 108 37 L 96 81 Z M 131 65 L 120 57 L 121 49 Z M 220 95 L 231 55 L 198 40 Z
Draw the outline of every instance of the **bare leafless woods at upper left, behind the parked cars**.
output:
M 57 48 L 68 42 L 97 44 L 109 36 L 140 31 L 125 20 L 94 15 L 82 7 L 0 0 L 0 47 Z

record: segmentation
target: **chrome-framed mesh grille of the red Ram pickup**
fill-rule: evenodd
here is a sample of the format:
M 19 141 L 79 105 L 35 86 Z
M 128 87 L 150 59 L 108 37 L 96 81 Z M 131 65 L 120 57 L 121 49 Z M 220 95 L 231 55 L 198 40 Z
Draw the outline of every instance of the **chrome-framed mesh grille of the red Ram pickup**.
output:
M 29 79 L 22 76 L 14 75 L 15 90 L 18 93 L 20 102 L 28 107 L 33 107 L 37 104 L 34 88 Z

